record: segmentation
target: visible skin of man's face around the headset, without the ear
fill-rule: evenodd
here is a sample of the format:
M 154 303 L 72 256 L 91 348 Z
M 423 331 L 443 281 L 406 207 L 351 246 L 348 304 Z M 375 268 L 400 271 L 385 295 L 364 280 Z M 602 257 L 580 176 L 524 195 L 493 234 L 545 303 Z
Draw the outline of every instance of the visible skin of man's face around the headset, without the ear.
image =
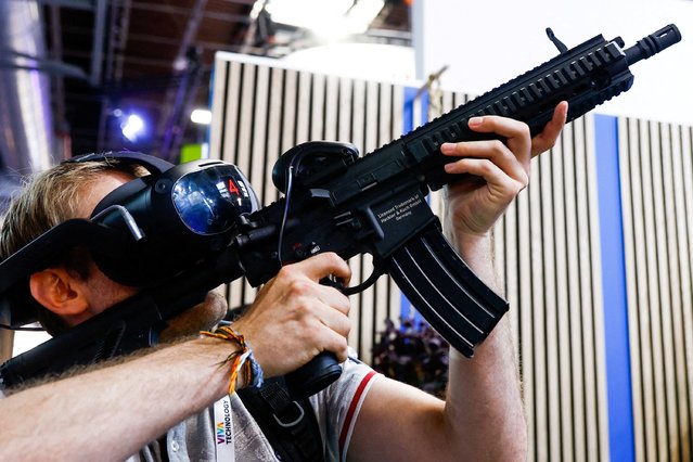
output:
M 84 191 L 78 218 L 89 218 L 97 205 L 110 192 L 133 179 L 134 177 L 120 171 L 103 174 L 98 181 Z M 108 279 L 95 265 L 84 284 L 90 305 L 88 317 L 98 315 L 137 293 L 136 287 L 118 284 Z M 226 299 L 210 293 L 205 301 L 171 319 L 169 328 L 162 333 L 162 338 L 169 339 L 210 329 L 226 315 L 227 309 Z

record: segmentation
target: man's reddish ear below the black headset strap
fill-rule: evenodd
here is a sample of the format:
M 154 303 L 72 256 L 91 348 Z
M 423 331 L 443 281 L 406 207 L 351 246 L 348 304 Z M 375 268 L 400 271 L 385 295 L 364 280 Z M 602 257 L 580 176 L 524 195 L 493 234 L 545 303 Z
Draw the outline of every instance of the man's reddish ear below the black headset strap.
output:
M 31 274 L 31 296 L 60 316 L 76 316 L 89 308 L 84 284 L 64 268 L 49 268 Z

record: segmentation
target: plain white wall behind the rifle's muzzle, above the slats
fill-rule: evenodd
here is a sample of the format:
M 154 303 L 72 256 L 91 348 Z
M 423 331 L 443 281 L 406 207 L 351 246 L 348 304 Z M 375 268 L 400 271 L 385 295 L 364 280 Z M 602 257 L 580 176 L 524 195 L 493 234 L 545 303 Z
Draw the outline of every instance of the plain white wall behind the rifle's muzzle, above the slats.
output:
M 595 111 L 693 125 L 693 1 L 418 0 L 413 3 L 418 77 L 442 65 L 441 87 L 479 94 L 557 54 L 551 27 L 568 48 L 599 34 L 626 47 L 675 23 L 680 43 L 631 67 L 631 90 Z

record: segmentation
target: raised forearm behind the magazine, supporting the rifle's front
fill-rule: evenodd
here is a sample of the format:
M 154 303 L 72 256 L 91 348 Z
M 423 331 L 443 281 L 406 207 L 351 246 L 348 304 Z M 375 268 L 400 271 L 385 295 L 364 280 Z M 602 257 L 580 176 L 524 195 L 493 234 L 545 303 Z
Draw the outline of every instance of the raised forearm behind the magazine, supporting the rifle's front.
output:
M 451 238 L 476 274 L 499 291 L 491 238 Z M 470 460 L 525 460 L 526 423 L 514 356 L 508 317 L 477 347 L 473 359 L 450 351 L 446 411 L 448 422 L 465 428 L 465 450 L 474 451 Z

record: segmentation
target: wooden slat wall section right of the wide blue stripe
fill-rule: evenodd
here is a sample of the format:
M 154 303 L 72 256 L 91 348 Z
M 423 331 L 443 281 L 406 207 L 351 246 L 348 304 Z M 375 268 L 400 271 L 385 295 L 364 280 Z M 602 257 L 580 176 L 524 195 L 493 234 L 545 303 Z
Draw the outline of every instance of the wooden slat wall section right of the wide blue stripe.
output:
M 693 460 L 691 128 L 619 119 L 636 458 Z

